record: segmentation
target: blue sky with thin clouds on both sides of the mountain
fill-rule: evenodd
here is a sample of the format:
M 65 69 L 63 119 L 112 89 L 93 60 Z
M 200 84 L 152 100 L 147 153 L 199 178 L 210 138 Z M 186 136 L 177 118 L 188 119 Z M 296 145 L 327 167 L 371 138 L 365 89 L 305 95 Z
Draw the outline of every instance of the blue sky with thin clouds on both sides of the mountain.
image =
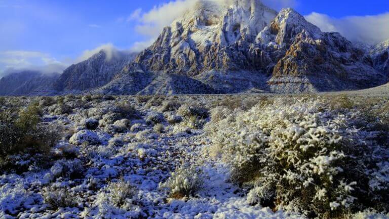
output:
M 364 34 L 365 26 L 371 26 L 369 22 L 364 23 L 366 15 L 371 15 L 369 19 L 373 22 L 380 19 L 383 24 L 386 15 L 389 18 L 387 0 L 265 2 L 277 9 L 293 7 L 302 15 L 310 15 L 307 19 L 324 31 L 344 32 L 346 37 L 350 33 L 350 38 Z M 169 0 L 0 0 L 0 77 L 9 67 L 75 63 L 101 45 L 140 50 L 177 16 L 179 10 L 175 7 L 181 9 L 182 4 Z M 354 29 L 347 29 L 352 26 L 350 23 L 355 25 Z M 389 29 L 389 23 L 386 25 Z

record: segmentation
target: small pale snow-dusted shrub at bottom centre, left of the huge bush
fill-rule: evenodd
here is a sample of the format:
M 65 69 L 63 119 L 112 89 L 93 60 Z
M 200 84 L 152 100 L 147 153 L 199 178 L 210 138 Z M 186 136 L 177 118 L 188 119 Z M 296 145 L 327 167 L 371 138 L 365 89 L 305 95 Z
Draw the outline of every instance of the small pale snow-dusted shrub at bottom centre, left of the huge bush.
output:
M 195 165 L 184 165 L 176 168 L 169 179 L 160 184 L 161 189 L 168 189 L 170 197 L 180 199 L 190 197 L 203 187 L 204 176 L 202 170 Z

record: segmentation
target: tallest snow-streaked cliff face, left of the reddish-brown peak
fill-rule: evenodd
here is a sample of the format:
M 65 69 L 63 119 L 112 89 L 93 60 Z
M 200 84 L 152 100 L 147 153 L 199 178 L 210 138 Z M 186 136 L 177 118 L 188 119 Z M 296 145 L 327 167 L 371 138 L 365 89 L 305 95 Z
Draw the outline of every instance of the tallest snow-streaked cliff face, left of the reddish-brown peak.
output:
M 269 60 L 253 42 L 276 15 L 260 1 L 199 1 L 195 10 L 164 28 L 136 61 L 151 71 L 186 76 L 213 69 L 259 70 Z

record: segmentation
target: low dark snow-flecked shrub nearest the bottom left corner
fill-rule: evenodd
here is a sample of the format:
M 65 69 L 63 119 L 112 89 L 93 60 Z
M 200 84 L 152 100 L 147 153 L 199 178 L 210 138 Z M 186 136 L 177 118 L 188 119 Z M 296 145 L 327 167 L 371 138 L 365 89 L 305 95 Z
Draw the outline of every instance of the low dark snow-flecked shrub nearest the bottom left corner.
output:
M 42 193 L 45 203 L 47 203 L 51 209 L 75 207 L 77 206 L 77 197 L 68 192 L 66 189 L 54 189 L 51 187 L 44 188 Z

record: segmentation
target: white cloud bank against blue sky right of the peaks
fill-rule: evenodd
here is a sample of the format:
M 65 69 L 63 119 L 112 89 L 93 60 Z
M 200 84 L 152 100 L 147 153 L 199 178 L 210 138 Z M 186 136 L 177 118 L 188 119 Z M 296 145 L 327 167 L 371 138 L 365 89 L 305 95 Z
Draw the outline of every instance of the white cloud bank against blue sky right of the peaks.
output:
M 374 16 L 332 18 L 325 14 L 311 13 L 305 19 L 325 32 L 339 32 L 351 41 L 379 43 L 389 39 L 389 13 Z

